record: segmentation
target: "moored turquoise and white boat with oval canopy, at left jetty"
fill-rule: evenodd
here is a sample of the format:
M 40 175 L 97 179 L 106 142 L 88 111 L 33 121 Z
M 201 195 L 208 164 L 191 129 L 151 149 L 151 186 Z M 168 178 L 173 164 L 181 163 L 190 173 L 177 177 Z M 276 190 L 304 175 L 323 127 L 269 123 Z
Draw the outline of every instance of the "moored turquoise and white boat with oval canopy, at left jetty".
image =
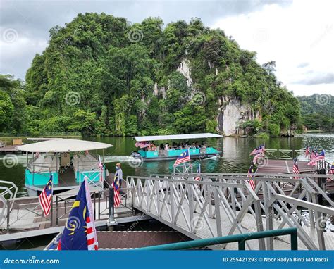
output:
M 104 149 L 113 145 L 78 140 L 48 139 L 25 144 L 17 149 L 26 152 L 25 187 L 29 196 L 36 196 L 53 177 L 54 192 L 75 189 L 85 177 L 89 184 L 103 188 L 108 176 L 104 165 Z M 103 156 L 91 154 L 102 149 Z

